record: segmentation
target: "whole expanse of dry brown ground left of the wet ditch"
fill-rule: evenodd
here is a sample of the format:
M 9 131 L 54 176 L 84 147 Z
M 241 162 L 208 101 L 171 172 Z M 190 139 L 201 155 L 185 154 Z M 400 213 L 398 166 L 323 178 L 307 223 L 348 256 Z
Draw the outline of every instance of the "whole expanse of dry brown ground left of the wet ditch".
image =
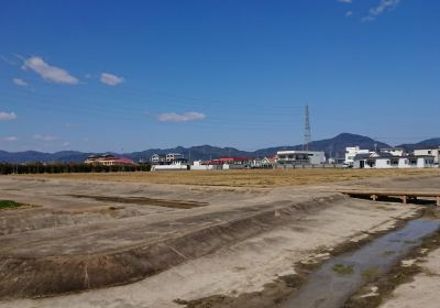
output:
M 32 207 L 0 210 L 0 307 L 275 307 L 301 264 L 419 210 L 334 190 L 439 187 L 437 169 L 3 176 L 0 200 Z

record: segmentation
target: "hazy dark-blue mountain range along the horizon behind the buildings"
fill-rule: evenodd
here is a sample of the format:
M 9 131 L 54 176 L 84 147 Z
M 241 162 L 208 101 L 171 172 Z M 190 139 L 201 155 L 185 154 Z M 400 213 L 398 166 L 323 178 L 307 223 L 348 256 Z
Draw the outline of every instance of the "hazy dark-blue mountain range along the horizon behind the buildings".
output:
M 383 147 L 392 147 L 391 145 L 375 141 L 371 138 L 351 134 L 351 133 L 341 133 L 332 139 L 314 141 L 309 144 L 310 151 L 323 151 L 326 155 L 342 157 L 345 153 L 345 147 L 359 145 L 361 148 L 375 150 Z M 419 143 L 407 143 L 397 145 L 398 147 L 404 147 L 406 151 L 414 151 L 415 148 L 424 148 L 424 147 L 439 147 L 440 146 L 440 138 L 429 139 L 421 141 Z M 151 148 L 142 152 L 132 152 L 132 153 L 108 153 L 113 154 L 116 156 L 123 156 L 128 158 L 132 158 L 135 162 L 140 160 L 148 161 L 153 154 L 166 154 L 166 153 L 182 153 L 189 157 L 190 160 L 213 160 L 219 157 L 272 157 L 276 154 L 277 151 L 283 150 L 302 150 L 302 145 L 292 145 L 292 146 L 275 146 L 256 150 L 254 152 L 241 151 L 234 147 L 218 147 L 212 145 L 199 145 L 191 147 L 183 147 L 177 146 L 173 148 Z M 6 152 L 0 151 L 0 162 L 8 163 L 25 163 L 25 162 L 84 162 L 87 156 L 94 154 L 102 154 L 102 153 L 84 153 L 78 151 L 62 151 L 56 153 L 44 153 L 36 151 L 25 151 L 25 152 Z

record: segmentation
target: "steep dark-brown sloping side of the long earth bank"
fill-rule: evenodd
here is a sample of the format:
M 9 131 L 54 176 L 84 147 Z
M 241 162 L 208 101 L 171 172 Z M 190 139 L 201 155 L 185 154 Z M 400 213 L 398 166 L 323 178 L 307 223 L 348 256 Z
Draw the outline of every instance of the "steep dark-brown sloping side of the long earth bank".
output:
M 332 194 L 302 202 L 279 201 L 263 209 L 255 208 L 240 219 L 231 218 L 163 241 L 108 253 L 45 257 L 1 255 L 0 298 L 51 296 L 132 283 L 292 223 L 338 201 L 346 201 L 346 197 Z

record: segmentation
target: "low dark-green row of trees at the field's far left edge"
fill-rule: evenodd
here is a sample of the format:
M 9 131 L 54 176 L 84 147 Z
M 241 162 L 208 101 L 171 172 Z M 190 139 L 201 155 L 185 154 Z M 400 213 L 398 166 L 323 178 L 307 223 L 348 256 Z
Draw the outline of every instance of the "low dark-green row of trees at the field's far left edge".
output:
M 61 174 L 61 173 L 114 173 L 150 172 L 150 164 L 103 166 L 84 163 L 0 163 L 0 174 Z

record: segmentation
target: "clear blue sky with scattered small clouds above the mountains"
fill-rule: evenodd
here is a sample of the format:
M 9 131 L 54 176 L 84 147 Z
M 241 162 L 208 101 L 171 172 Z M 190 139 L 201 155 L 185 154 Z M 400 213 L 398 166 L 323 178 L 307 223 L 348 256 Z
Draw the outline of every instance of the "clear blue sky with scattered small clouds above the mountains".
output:
M 1 1 L 0 150 L 440 136 L 440 2 Z

